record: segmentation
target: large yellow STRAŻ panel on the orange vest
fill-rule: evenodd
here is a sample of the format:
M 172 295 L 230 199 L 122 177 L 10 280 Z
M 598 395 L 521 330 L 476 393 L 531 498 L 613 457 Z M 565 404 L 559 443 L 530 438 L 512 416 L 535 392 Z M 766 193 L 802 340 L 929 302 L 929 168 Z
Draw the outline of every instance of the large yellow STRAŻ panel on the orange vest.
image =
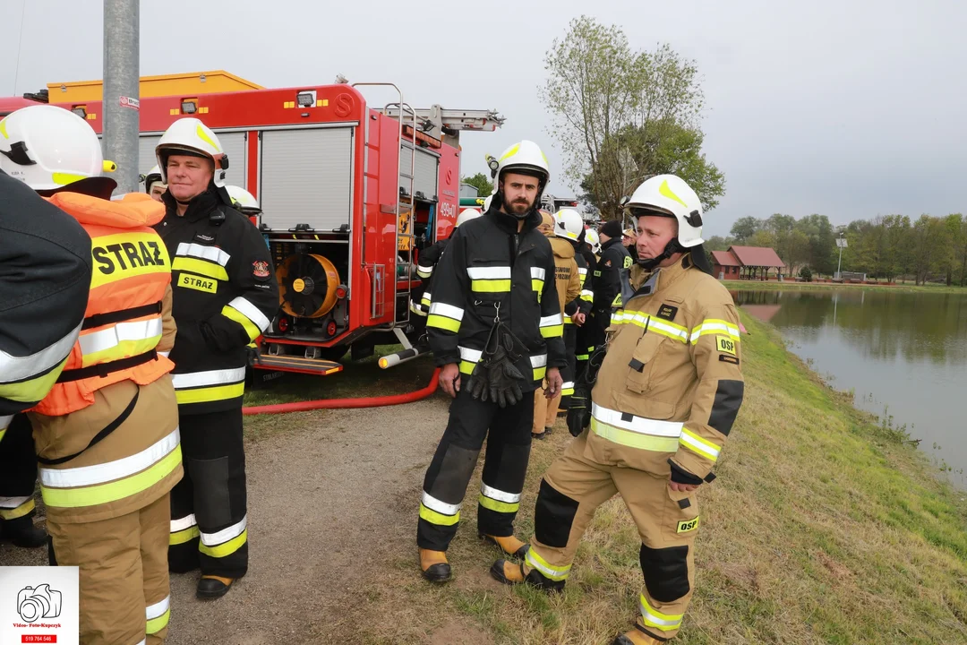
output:
M 117 233 L 93 238 L 91 256 L 94 260 L 92 289 L 122 279 L 171 272 L 168 251 L 161 238 L 154 234 Z

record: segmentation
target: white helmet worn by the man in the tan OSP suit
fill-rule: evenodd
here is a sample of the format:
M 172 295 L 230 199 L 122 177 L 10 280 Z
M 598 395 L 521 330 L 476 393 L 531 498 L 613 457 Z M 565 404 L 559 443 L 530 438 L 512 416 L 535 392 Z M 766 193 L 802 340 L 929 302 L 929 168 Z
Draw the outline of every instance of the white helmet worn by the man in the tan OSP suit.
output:
M 702 244 L 702 202 L 685 180 L 675 175 L 656 175 L 639 186 L 625 204 L 625 214 L 674 217 L 678 220 L 678 243 L 689 249 Z

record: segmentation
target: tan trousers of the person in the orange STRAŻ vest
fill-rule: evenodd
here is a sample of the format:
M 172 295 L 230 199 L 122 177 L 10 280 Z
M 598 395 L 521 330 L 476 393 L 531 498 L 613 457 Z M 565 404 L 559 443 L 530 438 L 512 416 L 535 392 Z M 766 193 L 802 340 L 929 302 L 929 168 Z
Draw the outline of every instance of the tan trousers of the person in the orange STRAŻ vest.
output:
M 79 570 L 81 645 L 164 642 L 171 615 L 169 504 L 165 494 L 134 513 L 96 522 L 47 517 L 50 564 Z

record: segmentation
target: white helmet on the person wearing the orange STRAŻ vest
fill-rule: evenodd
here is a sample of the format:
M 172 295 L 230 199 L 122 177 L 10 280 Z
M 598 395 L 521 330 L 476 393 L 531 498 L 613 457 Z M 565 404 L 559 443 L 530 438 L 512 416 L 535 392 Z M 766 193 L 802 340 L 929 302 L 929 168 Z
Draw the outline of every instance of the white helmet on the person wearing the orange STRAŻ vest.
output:
M 35 191 L 113 172 L 90 124 L 55 105 L 31 105 L 0 121 L 0 169 Z

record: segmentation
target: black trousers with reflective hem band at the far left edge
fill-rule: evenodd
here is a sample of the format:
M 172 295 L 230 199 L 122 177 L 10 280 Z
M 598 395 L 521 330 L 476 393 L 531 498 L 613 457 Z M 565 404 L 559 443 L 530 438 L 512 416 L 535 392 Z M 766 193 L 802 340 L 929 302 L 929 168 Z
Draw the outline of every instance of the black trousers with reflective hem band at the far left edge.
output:
M 4 528 L 33 524 L 34 489 L 37 486 L 37 454 L 27 415 L 11 420 L 0 439 L 0 520 Z

